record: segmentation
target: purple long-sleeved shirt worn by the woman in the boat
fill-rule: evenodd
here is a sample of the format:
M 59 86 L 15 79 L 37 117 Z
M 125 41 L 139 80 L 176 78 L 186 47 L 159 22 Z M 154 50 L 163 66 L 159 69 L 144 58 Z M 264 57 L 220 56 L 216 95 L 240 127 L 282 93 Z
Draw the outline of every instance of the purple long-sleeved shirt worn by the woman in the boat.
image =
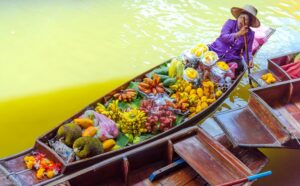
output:
M 244 59 L 246 59 L 246 52 L 244 50 L 244 37 L 240 36 L 235 39 L 235 35 L 238 31 L 237 21 L 231 19 L 227 20 L 221 30 L 221 35 L 209 46 L 209 49 L 216 52 L 220 60 L 226 62 L 241 61 L 242 50 L 244 51 Z M 254 32 L 251 29 L 247 33 L 247 40 L 249 60 L 252 61 L 252 44 L 254 40 Z

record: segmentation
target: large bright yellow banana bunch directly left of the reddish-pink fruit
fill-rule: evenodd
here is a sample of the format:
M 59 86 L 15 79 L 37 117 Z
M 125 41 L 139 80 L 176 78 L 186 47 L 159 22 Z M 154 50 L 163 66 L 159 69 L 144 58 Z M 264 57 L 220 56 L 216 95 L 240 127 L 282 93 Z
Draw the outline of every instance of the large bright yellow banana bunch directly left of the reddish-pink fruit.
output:
M 139 109 L 132 109 L 128 112 L 121 113 L 119 128 L 124 134 L 140 136 L 141 133 L 147 132 L 145 126 L 146 121 L 147 116 L 144 111 L 141 111 Z

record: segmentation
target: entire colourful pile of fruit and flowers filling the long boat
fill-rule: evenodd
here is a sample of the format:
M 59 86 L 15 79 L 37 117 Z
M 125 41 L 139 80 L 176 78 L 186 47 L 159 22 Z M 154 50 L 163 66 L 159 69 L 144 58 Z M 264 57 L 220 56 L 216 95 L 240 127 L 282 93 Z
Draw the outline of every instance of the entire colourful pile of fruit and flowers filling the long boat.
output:
M 61 157 L 72 154 L 72 160 L 90 158 L 165 132 L 205 110 L 223 94 L 207 79 L 210 76 L 205 76 L 207 66 L 218 56 L 203 44 L 186 51 L 195 59 L 193 65 L 181 56 L 135 79 L 92 105 L 93 110 L 62 125 L 49 146 Z M 216 66 L 229 69 L 222 61 Z M 66 152 L 59 151 L 60 143 Z M 69 162 L 69 157 L 63 159 Z

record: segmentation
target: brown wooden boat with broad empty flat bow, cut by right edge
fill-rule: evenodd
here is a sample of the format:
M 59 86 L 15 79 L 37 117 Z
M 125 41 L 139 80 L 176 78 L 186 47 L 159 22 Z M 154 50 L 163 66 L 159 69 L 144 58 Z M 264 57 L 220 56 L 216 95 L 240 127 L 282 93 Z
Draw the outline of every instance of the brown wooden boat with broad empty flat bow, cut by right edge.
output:
M 218 113 L 235 146 L 300 148 L 300 79 L 250 90 L 248 106 Z

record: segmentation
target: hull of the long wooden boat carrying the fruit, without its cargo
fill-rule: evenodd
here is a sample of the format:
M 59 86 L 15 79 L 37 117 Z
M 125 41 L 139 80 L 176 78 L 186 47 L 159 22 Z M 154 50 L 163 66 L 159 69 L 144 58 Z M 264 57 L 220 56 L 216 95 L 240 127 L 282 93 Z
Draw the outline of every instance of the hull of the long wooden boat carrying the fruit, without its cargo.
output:
M 165 63 L 169 63 L 171 60 L 166 61 Z M 163 64 L 165 64 L 163 63 Z M 163 65 L 161 64 L 161 65 Z M 42 135 L 41 137 L 39 137 L 33 148 L 30 148 L 20 154 L 16 154 L 4 159 L 0 159 L 0 170 L 2 169 L 2 172 L 4 172 L 7 175 L 10 175 L 10 177 L 12 179 L 15 179 L 15 181 L 17 180 L 17 182 L 21 182 L 21 184 L 29 184 L 29 185 L 34 185 L 34 184 L 38 184 L 38 183 L 43 183 L 45 181 L 47 181 L 47 179 L 41 179 L 38 180 L 35 176 L 35 171 L 30 171 L 27 170 L 24 166 L 24 162 L 23 162 L 23 158 L 26 155 L 30 155 L 33 151 L 39 151 L 41 153 L 46 154 L 46 156 L 48 158 L 50 158 L 51 160 L 55 161 L 55 162 L 59 162 L 62 164 L 62 173 L 70 173 L 70 172 L 74 172 L 83 168 L 86 168 L 88 166 L 91 166 L 95 163 L 98 163 L 100 161 L 103 161 L 105 159 L 114 157 L 118 154 L 123 154 L 129 150 L 135 149 L 137 147 L 140 146 L 144 146 L 147 143 L 156 141 L 160 138 L 163 138 L 165 136 L 168 136 L 172 133 L 175 133 L 183 128 L 195 125 L 197 122 L 199 122 L 200 120 L 204 119 L 206 116 L 208 116 L 210 113 L 212 113 L 223 101 L 224 99 L 227 98 L 227 96 L 232 92 L 232 90 L 238 85 L 238 83 L 240 82 L 241 78 L 243 77 L 244 73 L 245 73 L 245 69 L 237 76 L 237 78 L 234 80 L 234 82 L 232 83 L 232 85 L 226 90 L 226 92 L 224 92 L 215 102 L 213 102 L 208 108 L 202 110 L 201 112 L 197 113 L 194 117 L 184 120 L 180 125 L 174 126 L 173 128 L 171 128 L 170 130 L 166 131 L 166 132 L 162 132 L 159 133 L 153 137 L 151 137 L 150 139 L 147 139 L 145 141 L 142 141 L 140 143 L 131 145 L 131 146 L 127 146 L 124 148 L 121 148 L 119 150 L 115 150 L 115 151 L 110 151 L 110 152 L 106 152 L 88 159 L 83 159 L 83 160 L 79 160 L 79 161 L 75 161 L 75 162 L 71 162 L 71 163 L 66 163 L 59 155 L 57 155 L 57 153 L 50 148 L 47 143 L 49 139 L 52 139 L 55 137 L 57 130 L 60 126 L 62 126 L 65 123 L 69 123 L 71 121 L 73 121 L 75 118 L 78 118 L 79 116 L 81 116 L 86 110 L 91 109 L 91 108 L 95 108 L 97 103 L 105 103 L 106 101 L 108 101 L 109 99 L 112 98 L 112 96 L 119 92 L 120 90 L 123 90 L 125 88 L 128 87 L 128 85 L 130 84 L 130 82 L 132 81 L 141 81 L 146 74 L 148 74 L 149 72 L 151 72 L 152 70 L 154 70 L 155 68 L 158 68 L 160 65 L 154 67 L 153 69 L 150 69 L 149 71 L 137 76 L 136 78 L 128 81 L 127 83 L 121 85 L 120 87 L 116 88 L 115 90 L 111 91 L 110 93 L 102 96 L 101 98 L 97 99 L 96 101 L 94 101 L 93 103 L 89 104 L 87 107 L 85 107 L 83 110 L 81 110 L 80 112 L 78 112 L 77 114 L 73 115 L 72 117 L 68 118 L 67 120 L 63 121 L 61 124 L 59 124 L 57 127 L 55 127 L 53 130 L 47 132 L 46 134 Z M 57 176 L 55 178 L 52 179 L 58 179 L 60 176 Z

